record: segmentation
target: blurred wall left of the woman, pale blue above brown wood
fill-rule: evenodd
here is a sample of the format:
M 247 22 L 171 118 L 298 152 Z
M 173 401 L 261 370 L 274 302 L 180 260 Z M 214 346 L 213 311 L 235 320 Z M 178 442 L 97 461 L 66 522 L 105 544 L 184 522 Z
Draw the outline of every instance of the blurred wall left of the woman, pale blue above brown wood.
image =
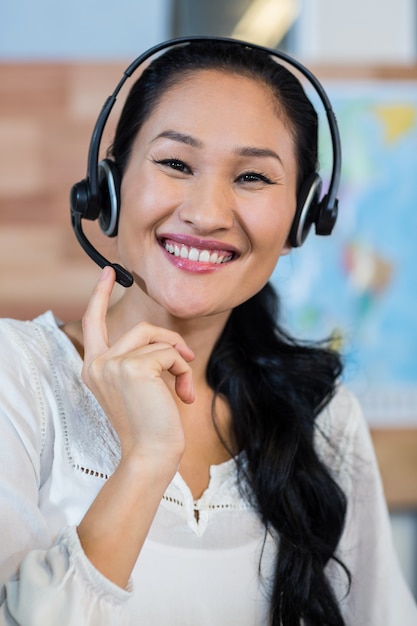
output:
M 168 0 L 0 3 L 0 315 L 83 311 L 97 268 L 71 232 L 69 190 L 102 103 L 170 20 Z

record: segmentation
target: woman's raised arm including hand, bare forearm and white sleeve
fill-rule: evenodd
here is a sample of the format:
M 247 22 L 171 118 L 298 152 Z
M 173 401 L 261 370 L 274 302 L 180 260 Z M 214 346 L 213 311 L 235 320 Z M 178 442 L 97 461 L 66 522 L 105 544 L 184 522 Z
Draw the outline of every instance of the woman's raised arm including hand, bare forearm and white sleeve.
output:
M 51 546 L 37 506 L 43 429 L 34 413 L 35 407 L 41 413 L 44 399 L 33 397 L 38 385 L 27 366 L 30 389 L 27 396 L 20 391 L 24 409 L 15 407 L 13 398 L 10 406 L 0 401 L 1 418 L 10 430 L 2 438 L 10 458 L 0 457 L 7 466 L 0 485 L 0 530 L 9 528 L 12 538 L 2 545 L 2 580 L 14 574 L 3 587 L 0 624 L 58 623 L 62 615 L 68 626 L 127 623 L 130 594 L 124 588 L 181 458 L 181 420 L 161 372 L 170 372 L 178 397 L 191 401 L 190 370 L 180 353 L 188 360 L 192 353 L 175 333 L 149 325 L 108 346 L 104 320 L 114 276 L 103 274 L 84 319 L 84 377 L 119 434 L 121 462 L 81 521 L 79 534 L 66 528 Z M 12 397 L 9 382 L 3 382 L 4 397 Z M 15 428 L 22 411 L 28 416 L 27 432 Z

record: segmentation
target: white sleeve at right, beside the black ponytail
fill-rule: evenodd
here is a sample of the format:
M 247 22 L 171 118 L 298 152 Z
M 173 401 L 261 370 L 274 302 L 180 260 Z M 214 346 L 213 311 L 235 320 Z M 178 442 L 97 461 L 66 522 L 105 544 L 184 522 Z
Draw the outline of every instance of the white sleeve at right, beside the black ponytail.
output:
M 416 626 L 417 606 L 397 559 L 368 426 L 355 398 L 342 394 L 338 404 L 344 424 L 339 447 L 342 483 L 348 501 L 338 556 L 351 574 L 350 592 L 346 595 L 345 584 L 338 593 L 346 623 Z M 333 572 L 336 567 L 331 565 Z M 340 579 L 340 568 L 337 576 Z

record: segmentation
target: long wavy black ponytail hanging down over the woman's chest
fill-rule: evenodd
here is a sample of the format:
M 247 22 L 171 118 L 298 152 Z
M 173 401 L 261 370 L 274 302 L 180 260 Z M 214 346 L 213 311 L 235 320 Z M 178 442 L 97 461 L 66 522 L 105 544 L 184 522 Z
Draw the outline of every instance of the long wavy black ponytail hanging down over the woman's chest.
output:
M 278 298 L 267 284 L 232 312 L 208 380 L 232 408 L 236 447 L 245 451 L 242 484 L 277 541 L 271 624 L 342 626 L 324 569 L 331 559 L 345 569 L 336 549 L 346 499 L 313 445 L 341 361 L 324 345 L 295 341 L 277 319 Z

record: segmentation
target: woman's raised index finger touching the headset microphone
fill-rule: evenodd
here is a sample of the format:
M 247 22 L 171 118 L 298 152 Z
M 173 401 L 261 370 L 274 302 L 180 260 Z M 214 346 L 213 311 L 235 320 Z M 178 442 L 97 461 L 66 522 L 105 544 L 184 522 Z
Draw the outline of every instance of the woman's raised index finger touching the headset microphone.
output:
M 106 315 L 115 282 L 116 273 L 107 265 L 100 274 L 82 318 L 84 361 L 94 359 L 109 347 Z

